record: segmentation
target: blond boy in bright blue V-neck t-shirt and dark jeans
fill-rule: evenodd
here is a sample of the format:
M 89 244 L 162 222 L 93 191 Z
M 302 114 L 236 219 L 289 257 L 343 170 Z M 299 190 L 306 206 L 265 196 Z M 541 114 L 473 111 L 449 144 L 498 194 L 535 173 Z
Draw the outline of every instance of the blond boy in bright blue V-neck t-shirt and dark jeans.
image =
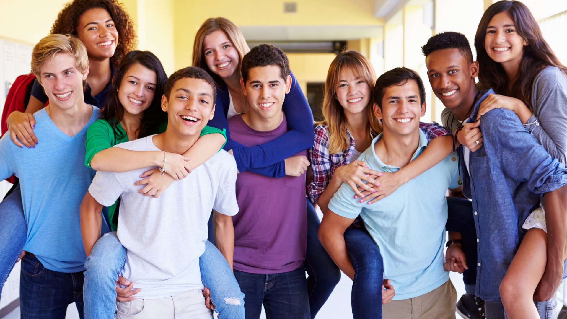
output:
M 87 128 L 100 110 L 84 103 L 88 57 L 81 40 L 44 37 L 33 48 L 31 67 L 49 97 L 49 106 L 34 114 L 41 144 L 32 156 L 9 133 L 0 142 L 0 178 L 20 179 L 27 224 L 20 311 L 22 318 L 54 318 L 75 303 L 82 316 L 86 255 L 78 212 L 95 175 L 82 162 Z

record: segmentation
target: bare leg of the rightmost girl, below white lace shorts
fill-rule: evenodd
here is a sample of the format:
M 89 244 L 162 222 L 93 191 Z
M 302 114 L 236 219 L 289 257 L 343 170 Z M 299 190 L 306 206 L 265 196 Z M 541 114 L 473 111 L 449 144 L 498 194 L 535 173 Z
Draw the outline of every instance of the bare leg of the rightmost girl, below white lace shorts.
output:
M 500 283 L 500 297 L 510 319 L 539 319 L 534 304 L 535 288 L 547 262 L 547 234 L 531 228 Z

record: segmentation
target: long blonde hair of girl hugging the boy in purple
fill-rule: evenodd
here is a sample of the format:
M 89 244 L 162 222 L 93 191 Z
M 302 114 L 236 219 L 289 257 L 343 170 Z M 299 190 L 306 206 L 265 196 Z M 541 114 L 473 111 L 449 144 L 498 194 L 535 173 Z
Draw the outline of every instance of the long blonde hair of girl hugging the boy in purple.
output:
M 242 65 L 242 58 L 250 51 L 242 32 L 240 32 L 239 28 L 236 27 L 234 23 L 232 23 L 229 19 L 222 18 L 219 16 L 218 18 L 210 18 L 207 19 L 201 27 L 197 31 L 195 35 L 195 41 L 193 43 L 193 66 L 197 66 L 205 70 L 207 73 L 213 77 L 215 82 L 219 83 L 222 79 L 217 75 L 214 74 L 210 69 L 209 66 L 205 62 L 204 52 L 203 52 L 203 41 L 205 40 L 205 36 L 213 33 L 217 30 L 221 30 L 225 32 L 226 36 L 231 41 L 232 45 L 238 52 L 239 60 L 238 61 L 238 73 L 240 74 L 240 66 Z

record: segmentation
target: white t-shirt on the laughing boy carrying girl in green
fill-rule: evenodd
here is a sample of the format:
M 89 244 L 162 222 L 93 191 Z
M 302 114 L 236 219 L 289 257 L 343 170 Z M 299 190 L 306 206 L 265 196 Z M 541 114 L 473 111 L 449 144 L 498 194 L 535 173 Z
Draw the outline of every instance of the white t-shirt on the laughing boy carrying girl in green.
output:
M 159 150 L 152 136 L 121 143 L 129 150 Z M 121 196 L 117 236 L 128 251 L 121 276 L 141 288 L 136 297 L 157 299 L 203 288 L 199 257 L 205 251 L 211 209 L 233 216 L 236 203 L 236 162 L 221 150 L 193 173 L 173 182 L 159 198 L 138 193 L 143 172 L 98 171 L 88 191 L 110 206 Z

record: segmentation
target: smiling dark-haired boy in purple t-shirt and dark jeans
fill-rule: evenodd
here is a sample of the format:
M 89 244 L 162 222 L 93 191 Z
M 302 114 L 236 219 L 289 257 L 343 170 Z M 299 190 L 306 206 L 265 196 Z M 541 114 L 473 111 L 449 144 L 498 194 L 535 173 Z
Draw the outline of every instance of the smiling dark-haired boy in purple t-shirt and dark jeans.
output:
M 291 86 L 285 53 L 268 44 L 253 48 L 243 58 L 240 83 L 249 111 L 229 119 L 231 138 L 254 146 L 284 135 L 282 103 Z M 304 171 L 281 178 L 243 171 L 236 178 L 236 200 L 234 276 L 246 295 L 246 318 L 260 318 L 264 304 L 269 318 L 309 319 Z

